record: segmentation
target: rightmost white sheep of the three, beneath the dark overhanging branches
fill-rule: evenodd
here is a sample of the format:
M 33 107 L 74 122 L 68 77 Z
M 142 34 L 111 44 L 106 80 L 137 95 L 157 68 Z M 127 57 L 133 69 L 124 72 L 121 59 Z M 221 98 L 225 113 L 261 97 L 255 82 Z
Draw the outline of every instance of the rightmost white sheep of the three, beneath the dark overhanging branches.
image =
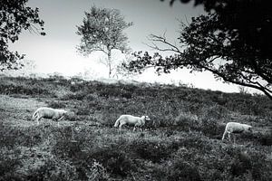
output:
M 225 128 L 225 132 L 223 134 L 222 140 L 226 138 L 228 133 L 228 140 L 230 140 L 230 135 L 242 132 L 252 132 L 252 126 L 247 124 L 241 124 L 238 122 L 228 122 Z M 234 137 L 235 143 L 235 137 Z

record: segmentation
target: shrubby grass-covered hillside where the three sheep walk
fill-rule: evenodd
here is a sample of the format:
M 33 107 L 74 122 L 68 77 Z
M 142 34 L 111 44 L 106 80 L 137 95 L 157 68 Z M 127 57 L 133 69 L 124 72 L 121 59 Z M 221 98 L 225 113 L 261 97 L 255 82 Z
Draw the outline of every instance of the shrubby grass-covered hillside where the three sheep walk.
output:
M 57 123 L 34 110 L 69 110 Z M 112 128 L 149 115 L 145 130 Z M 272 180 L 272 102 L 171 85 L 0 78 L 0 180 Z M 221 141 L 228 121 L 254 126 Z

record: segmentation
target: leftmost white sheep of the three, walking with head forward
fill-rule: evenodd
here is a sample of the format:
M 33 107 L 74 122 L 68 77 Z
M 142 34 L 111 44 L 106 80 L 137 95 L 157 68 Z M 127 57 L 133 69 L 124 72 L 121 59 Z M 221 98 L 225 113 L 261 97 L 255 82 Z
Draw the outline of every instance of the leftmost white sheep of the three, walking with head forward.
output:
M 33 120 L 37 121 L 37 125 L 39 125 L 39 120 L 44 118 L 44 119 L 53 119 L 55 121 L 62 120 L 64 115 L 67 114 L 68 111 L 66 110 L 57 110 L 57 109 L 52 109 L 52 108 L 46 108 L 42 107 L 34 111 Z M 59 122 L 58 122 L 59 126 Z

